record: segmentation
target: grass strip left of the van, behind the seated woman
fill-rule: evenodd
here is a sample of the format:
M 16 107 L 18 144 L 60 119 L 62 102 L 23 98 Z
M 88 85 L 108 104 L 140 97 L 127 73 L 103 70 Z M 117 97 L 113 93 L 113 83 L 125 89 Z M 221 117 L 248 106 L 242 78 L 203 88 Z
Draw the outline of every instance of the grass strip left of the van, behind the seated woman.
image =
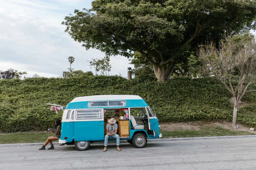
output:
M 1 134 L 0 144 L 45 142 L 47 137 L 54 135 L 55 134 L 50 132 L 18 132 L 13 134 Z

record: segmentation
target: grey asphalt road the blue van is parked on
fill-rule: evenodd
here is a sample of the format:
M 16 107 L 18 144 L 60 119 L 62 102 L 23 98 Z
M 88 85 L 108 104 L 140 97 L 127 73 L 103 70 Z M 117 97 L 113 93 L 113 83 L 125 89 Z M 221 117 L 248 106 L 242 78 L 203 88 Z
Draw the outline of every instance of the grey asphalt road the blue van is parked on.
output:
M 41 146 L 0 145 L 0 169 L 256 169 L 256 135 L 155 139 L 142 149 L 122 142 L 121 151 L 112 142 L 106 152 L 96 142 L 87 151 L 57 143 L 54 150 L 38 150 Z

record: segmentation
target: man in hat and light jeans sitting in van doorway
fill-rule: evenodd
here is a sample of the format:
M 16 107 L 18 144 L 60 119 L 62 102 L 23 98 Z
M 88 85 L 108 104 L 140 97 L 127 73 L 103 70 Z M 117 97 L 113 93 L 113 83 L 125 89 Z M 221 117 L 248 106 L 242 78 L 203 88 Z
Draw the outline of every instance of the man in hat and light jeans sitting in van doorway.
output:
M 108 139 L 111 137 L 116 139 L 116 150 L 121 151 L 121 149 L 119 149 L 120 136 L 118 134 L 116 134 L 118 126 L 115 122 L 116 122 L 116 120 L 114 118 L 111 118 L 109 120 L 109 123 L 106 125 L 107 135 L 105 136 L 105 143 L 104 143 L 105 147 L 104 147 L 103 152 L 107 151 Z

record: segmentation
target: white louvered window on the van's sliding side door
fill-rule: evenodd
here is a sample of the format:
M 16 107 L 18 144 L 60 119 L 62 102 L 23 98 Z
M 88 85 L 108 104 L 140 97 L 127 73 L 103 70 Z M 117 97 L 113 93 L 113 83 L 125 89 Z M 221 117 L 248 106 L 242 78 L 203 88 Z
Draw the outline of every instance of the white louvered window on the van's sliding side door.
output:
M 100 110 L 76 110 L 76 119 L 102 119 Z

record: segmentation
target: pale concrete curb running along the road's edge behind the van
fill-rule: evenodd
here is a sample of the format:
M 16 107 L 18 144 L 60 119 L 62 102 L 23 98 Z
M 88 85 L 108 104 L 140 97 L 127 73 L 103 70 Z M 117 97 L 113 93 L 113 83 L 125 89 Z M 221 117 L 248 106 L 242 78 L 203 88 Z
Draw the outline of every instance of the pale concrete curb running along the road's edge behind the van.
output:
M 176 140 L 202 140 L 202 139 L 230 139 L 230 138 L 256 138 L 256 135 L 240 135 L 240 136 L 210 136 L 210 137 L 186 137 L 186 138 L 161 138 L 161 139 L 147 139 L 148 142 L 157 141 L 176 141 Z M 103 142 L 100 142 L 103 143 Z M 108 143 L 115 143 L 109 141 Z M 126 140 L 120 140 L 120 143 L 127 143 Z M 42 146 L 44 143 L 16 143 L 16 144 L 1 144 L 0 148 L 23 147 L 23 146 Z M 53 142 L 54 145 L 59 145 L 58 142 Z M 96 142 L 99 144 L 99 142 Z

